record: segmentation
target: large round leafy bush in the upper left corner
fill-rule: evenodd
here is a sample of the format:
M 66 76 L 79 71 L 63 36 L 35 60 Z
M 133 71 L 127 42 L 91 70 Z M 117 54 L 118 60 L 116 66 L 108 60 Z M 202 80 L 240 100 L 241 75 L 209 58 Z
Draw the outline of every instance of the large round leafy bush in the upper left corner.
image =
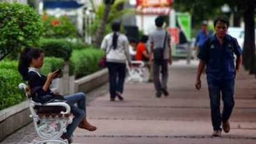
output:
M 33 46 L 42 36 L 42 19 L 28 5 L 0 3 L 0 51 L 13 51 L 15 58 L 22 47 Z M 6 55 L 1 55 L 0 60 Z

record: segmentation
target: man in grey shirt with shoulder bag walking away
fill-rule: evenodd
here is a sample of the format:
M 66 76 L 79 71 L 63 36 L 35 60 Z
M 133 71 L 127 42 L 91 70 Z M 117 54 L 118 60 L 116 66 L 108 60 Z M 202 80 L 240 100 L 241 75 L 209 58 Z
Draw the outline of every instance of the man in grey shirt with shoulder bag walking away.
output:
M 168 81 L 168 62 L 172 64 L 172 51 L 170 48 L 170 35 L 162 28 L 163 17 L 155 19 L 157 29 L 150 34 L 150 57 L 153 61 L 153 79 L 157 98 L 168 96 L 167 81 Z M 161 70 L 161 82 L 159 80 Z

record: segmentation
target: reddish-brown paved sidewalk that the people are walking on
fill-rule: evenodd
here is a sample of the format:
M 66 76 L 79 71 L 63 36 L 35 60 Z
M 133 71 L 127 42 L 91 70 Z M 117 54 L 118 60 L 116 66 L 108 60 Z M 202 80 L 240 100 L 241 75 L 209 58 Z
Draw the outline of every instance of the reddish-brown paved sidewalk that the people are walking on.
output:
M 111 102 L 107 84 L 88 103 L 88 119 L 97 131 L 77 129 L 74 143 L 85 144 L 256 144 L 256 79 L 241 70 L 231 131 L 212 138 L 205 74 L 202 89 L 195 90 L 198 61 L 180 60 L 170 66 L 168 97 L 154 96 L 152 83 L 125 84 L 124 101 Z M 91 93 L 92 94 L 92 93 Z M 25 132 L 26 131 L 26 132 Z M 20 129 L 2 143 L 28 143 L 33 125 Z

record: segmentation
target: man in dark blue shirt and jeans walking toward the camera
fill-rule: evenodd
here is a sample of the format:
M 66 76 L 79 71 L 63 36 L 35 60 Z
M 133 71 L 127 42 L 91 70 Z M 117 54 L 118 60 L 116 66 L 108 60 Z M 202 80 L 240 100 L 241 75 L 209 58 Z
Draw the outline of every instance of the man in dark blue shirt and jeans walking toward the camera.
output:
M 214 20 L 215 35 L 212 35 L 200 46 L 198 73 L 195 88 L 200 90 L 202 69 L 207 65 L 207 84 L 211 105 L 211 123 L 214 129 L 212 136 L 221 136 L 223 131 L 230 132 L 229 118 L 234 107 L 234 80 L 241 65 L 241 48 L 237 39 L 227 35 L 229 21 L 225 17 Z M 234 54 L 237 55 L 234 66 Z M 223 112 L 220 112 L 221 96 Z

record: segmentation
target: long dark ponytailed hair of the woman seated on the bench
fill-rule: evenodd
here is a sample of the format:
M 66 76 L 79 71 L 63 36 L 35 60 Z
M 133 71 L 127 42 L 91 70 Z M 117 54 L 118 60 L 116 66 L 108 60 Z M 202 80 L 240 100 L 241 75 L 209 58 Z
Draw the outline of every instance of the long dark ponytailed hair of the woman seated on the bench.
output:
M 32 59 L 37 59 L 42 54 L 42 50 L 38 48 L 24 48 L 20 57 L 18 71 L 22 75 L 23 80 L 28 80 L 29 65 Z

